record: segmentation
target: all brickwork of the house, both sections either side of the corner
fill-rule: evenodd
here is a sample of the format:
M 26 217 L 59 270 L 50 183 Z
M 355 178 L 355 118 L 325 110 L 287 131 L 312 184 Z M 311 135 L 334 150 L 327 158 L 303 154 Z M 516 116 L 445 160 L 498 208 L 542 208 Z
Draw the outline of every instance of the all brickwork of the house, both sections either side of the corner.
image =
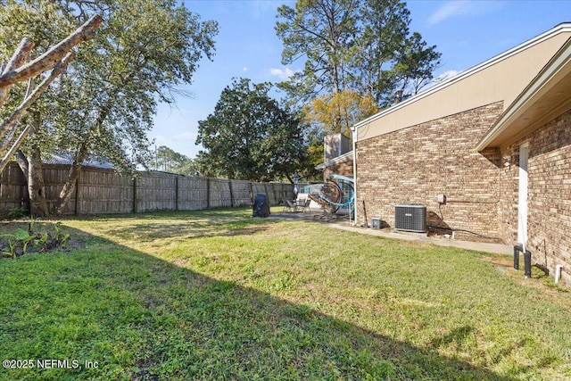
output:
M 571 285 L 571 111 L 513 145 L 474 149 L 501 103 L 357 142 L 357 209 L 394 226 L 394 205 L 426 205 L 428 224 L 517 242 L 519 146 L 529 144 L 528 243 L 534 264 Z M 508 165 L 504 165 L 508 163 Z M 436 195 L 447 203 L 439 208 Z M 443 219 L 441 219 L 441 216 Z M 450 232 L 449 232 L 450 233 Z M 469 233 L 459 239 L 486 240 Z

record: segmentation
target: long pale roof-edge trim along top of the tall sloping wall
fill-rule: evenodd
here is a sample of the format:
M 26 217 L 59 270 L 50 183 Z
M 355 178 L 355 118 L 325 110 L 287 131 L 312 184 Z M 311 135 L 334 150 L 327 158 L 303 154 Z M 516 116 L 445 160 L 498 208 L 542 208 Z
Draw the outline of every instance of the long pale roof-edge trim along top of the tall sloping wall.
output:
M 406 107 L 409 104 L 413 104 L 413 103 L 417 102 L 418 100 L 425 98 L 426 96 L 432 95 L 432 94 L 442 90 L 444 87 L 449 87 L 449 86 L 455 84 L 456 82 L 459 82 L 462 79 L 466 79 L 469 76 L 474 75 L 478 71 L 485 70 L 485 69 L 489 68 L 490 66 L 511 57 L 512 55 L 518 54 L 518 53 L 524 51 L 525 49 L 528 49 L 531 46 L 540 44 L 543 41 L 545 41 L 546 39 L 557 36 L 559 33 L 563 33 L 563 32 L 571 32 L 571 22 L 562 22 L 559 25 L 557 25 L 555 28 L 550 29 L 550 30 L 542 33 L 541 35 L 534 37 L 528 41 L 525 41 L 525 43 L 520 44 L 516 47 L 513 47 L 513 48 L 509 49 L 508 51 L 506 51 L 502 54 L 496 55 L 495 57 L 491 58 L 490 60 L 482 62 L 479 65 L 476 65 L 475 67 L 473 67 L 471 69 L 462 71 L 459 74 L 457 74 L 456 76 L 452 77 L 451 79 L 447 79 L 447 80 L 443 81 L 443 83 L 441 83 L 441 84 L 438 84 L 434 87 L 430 87 L 430 88 L 426 89 L 425 91 L 418 93 L 418 95 L 411 96 L 409 99 L 402 101 L 399 104 L 395 104 L 395 105 L 389 107 L 388 109 L 386 109 L 382 112 L 377 112 L 375 115 L 372 115 L 372 116 L 368 117 L 367 119 L 361 120 L 360 122 L 354 124 L 352 127 L 352 130 L 357 131 L 359 128 L 368 125 L 372 121 L 380 119 L 380 118 L 384 117 L 385 115 L 390 114 L 392 112 L 396 112 L 397 110 L 400 110 L 401 108 Z

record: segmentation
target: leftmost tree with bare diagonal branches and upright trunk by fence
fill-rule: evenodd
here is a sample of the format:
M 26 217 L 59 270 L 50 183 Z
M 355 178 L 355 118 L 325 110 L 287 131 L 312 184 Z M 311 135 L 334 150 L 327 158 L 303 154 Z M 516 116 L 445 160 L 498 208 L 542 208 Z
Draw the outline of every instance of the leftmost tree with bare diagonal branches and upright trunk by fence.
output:
M 0 151 L 4 158 L 0 162 L 0 171 L 16 154 L 21 163 L 24 177 L 28 181 L 29 198 L 31 200 L 30 209 L 33 215 L 48 214 L 44 189 L 44 179 L 42 176 L 42 160 L 37 143 L 29 145 L 31 147 L 28 158 L 21 153 L 21 148 L 26 146 L 26 139 L 40 135 L 41 116 L 46 110 L 46 103 L 41 98 L 45 93 L 49 94 L 49 85 L 57 79 L 64 70 L 68 68 L 74 55 L 71 49 L 79 42 L 93 37 L 94 29 L 103 21 L 99 15 L 91 17 L 80 28 L 67 33 L 70 25 L 62 24 L 59 15 L 52 17 L 54 4 L 42 2 L 38 8 L 32 8 L 28 4 L 17 4 L 9 1 L 4 4 L 0 12 L 0 35 L 3 43 L 0 43 L 0 57 L 8 56 L 15 40 L 19 37 L 21 44 L 15 48 L 15 53 L 9 62 L 2 64 L 0 70 L 0 116 L 5 115 L 4 123 L 0 128 L 3 141 L 0 144 Z M 50 46 L 51 39 L 55 39 L 57 44 Z M 30 38 L 35 37 L 34 41 Z M 61 40 L 61 41 L 57 41 Z M 37 58 L 26 62 L 32 48 L 36 47 Z M 3 60 L 0 60 L 3 61 Z M 53 70 L 52 70 L 53 69 Z M 38 74 L 46 70 L 52 70 L 49 76 L 39 77 Z M 19 86 L 19 82 L 28 79 L 27 88 Z M 35 87 L 33 90 L 31 90 Z M 13 110 L 5 113 L 3 104 L 8 99 L 12 90 L 12 107 L 5 108 Z M 16 106 L 16 104 L 19 105 Z M 23 121 L 21 127 L 21 121 Z M 16 132 L 19 135 L 16 136 Z

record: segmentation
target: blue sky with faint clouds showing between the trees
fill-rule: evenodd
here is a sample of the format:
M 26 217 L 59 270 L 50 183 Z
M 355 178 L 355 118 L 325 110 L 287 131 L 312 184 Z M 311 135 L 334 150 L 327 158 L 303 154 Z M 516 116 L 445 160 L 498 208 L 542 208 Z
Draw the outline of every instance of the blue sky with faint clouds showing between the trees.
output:
M 294 1 L 185 0 L 186 7 L 202 20 L 219 22 L 216 55 L 203 60 L 194 83 L 174 106 L 161 105 L 149 137 L 155 145 L 167 145 L 194 158 L 198 120 L 205 120 L 233 78 L 259 83 L 277 82 L 301 70 L 303 62 L 285 67 L 282 43 L 276 37 L 277 7 Z M 476 66 L 497 54 L 571 21 L 571 1 L 408 1 L 411 31 L 419 32 L 428 45 L 442 53 L 435 76 Z

